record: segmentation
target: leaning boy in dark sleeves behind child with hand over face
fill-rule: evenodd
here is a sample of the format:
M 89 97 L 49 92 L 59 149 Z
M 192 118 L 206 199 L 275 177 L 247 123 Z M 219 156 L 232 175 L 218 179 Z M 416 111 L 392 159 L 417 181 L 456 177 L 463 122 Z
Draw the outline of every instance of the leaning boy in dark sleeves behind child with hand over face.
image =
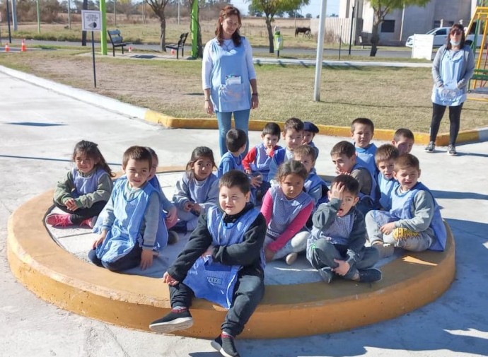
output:
M 366 168 L 364 161 L 357 160 L 356 148 L 349 141 L 339 141 L 330 151 L 337 175 L 351 175 L 359 182 L 359 202 L 356 206 L 363 215 L 375 207 L 376 176 Z

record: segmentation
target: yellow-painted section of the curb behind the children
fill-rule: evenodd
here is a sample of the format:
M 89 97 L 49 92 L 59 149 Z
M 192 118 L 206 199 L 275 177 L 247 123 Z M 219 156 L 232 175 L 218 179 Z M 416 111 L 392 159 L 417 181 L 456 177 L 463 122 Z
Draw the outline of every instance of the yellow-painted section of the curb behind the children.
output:
M 217 120 L 212 118 L 196 118 L 196 119 L 184 119 L 184 118 L 175 118 L 170 117 L 169 115 L 164 115 L 159 112 L 155 112 L 153 110 L 147 110 L 146 114 L 144 115 L 144 119 L 148 122 L 152 122 L 155 124 L 163 125 L 163 127 L 167 127 L 170 129 L 219 129 L 217 124 Z M 249 121 L 249 130 L 252 131 L 262 131 L 262 128 L 268 122 L 266 120 L 250 120 Z M 279 122 L 279 127 L 283 129 L 283 123 Z M 333 125 L 317 125 L 320 135 L 328 135 L 328 136 L 343 136 L 344 138 L 351 137 L 351 129 L 350 127 L 335 127 Z M 374 139 L 377 140 L 384 140 L 384 141 L 392 141 L 393 134 L 395 134 L 395 130 L 390 129 L 376 129 L 374 132 Z M 415 143 L 416 144 L 429 144 L 429 134 L 428 133 L 419 133 L 415 132 Z M 460 131 L 458 135 L 458 143 L 467 142 L 467 141 L 479 141 L 480 134 L 477 130 L 468 130 L 468 131 Z M 436 145 L 438 146 L 447 146 L 449 143 L 449 133 L 446 134 L 438 134 L 436 139 Z

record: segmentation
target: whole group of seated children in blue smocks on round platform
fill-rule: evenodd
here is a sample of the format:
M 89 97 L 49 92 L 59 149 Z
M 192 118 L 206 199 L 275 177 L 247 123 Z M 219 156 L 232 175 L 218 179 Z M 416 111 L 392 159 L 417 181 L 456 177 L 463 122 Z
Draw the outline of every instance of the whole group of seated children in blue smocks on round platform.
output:
M 371 283 L 381 279 L 373 265 L 395 247 L 444 249 L 438 205 L 418 182 L 419 161 L 409 154 L 412 131 L 397 130 L 392 144 L 379 148 L 371 143 L 370 119 L 354 119 L 351 131 L 353 142 L 340 141 L 330 151 L 337 177 L 328 184 L 314 168 L 313 123 L 292 117 L 282 133 L 268 123 L 262 143 L 245 156 L 247 135 L 231 129 L 216 175 L 211 149 L 195 148 L 172 201 L 154 176 L 158 159 L 150 148 L 125 151 L 125 175 L 112 187 L 96 144 L 81 141 L 76 168 L 54 194 L 66 214 L 53 213 L 47 223 L 94 226 L 100 238 L 88 257 L 113 271 L 145 269 L 168 237 L 175 242 L 178 233 L 191 232 L 163 276 L 172 309 L 150 328 L 163 333 L 192 326 L 192 298 L 206 298 L 228 309 L 212 346 L 238 356 L 233 339 L 265 293 L 266 262 L 293 264 L 303 252 L 327 283 L 336 277 Z

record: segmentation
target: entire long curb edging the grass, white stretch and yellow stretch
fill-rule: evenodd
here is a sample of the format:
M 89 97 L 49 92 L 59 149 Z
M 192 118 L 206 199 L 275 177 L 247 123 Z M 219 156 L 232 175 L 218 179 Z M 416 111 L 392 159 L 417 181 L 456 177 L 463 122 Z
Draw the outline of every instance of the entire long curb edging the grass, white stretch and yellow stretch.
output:
M 276 59 L 274 59 L 276 62 Z M 303 62 L 303 60 L 301 60 Z M 329 61 L 330 62 L 330 61 Z M 347 66 L 352 65 L 354 62 L 347 62 Z M 362 62 L 361 62 L 362 63 Z M 381 62 L 383 63 L 383 62 Z M 389 62 L 385 62 L 385 65 Z M 330 64 L 337 65 L 337 64 Z M 431 64 L 429 64 L 431 66 Z M 82 90 L 79 88 L 74 88 L 71 86 L 66 86 L 61 83 L 50 81 L 45 78 L 40 78 L 32 74 L 26 74 L 25 72 L 17 71 L 15 69 L 10 69 L 5 66 L 0 66 L 0 71 L 4 72 L 8 76 L 21 79 L 28 83 L 32 83 L 35 86 L 40 86 L 42 88 L 47 88 L 53 90 L 54 92 L 66 95 L 70 98 L 81 100 L 82 102 L 89 103 L 95 107 L 100 107 L 112 112 L 116 112 L 127 117 L 134 117 L 137 119 L 142 119 L 147 122 L 152 122 L 154 124 L 162 125 L 168 129 L 218 129 L 216 119 L 209 118 L 176 118 L 170 117 L 160 112 L 155 112 L 153 110 L 136 107 L 135 105 L 123 103 L 120 100 L 112 99 L 100 95 L 97 93 L 92 93 L 88 90 Z M 267 121 L 265 120 L 250 120 L 249 129 L 252 131 L 261 131 L 262 127 L 265 126 Z M 283 129 L 283 123 L 280 124 L 281 129 Z M 317 127 L 320 130 L 320 135 L 327 136 L 343 136 L 349 138 L 351 136 L 351 129 L 349 127 L 335 127 L 332 125 L 318 124 Z M 391 141 L 393 139 L 393 134 L 395 130 L 391 129 L 376 129 L 374 133 L 374 138 L 378 140 Z M 415 144 L 429 144 L 429 133 L 415 132 Z M 473 141 L 487 141 L 488 140 L 488 127 L 478 128 L 466 131 L 460 131 L 458 134 L 457 143 L 467 143 Z M 437 146 L 447 146 L 449 144 L 449 133 L 438 134 L 436 139 Z

